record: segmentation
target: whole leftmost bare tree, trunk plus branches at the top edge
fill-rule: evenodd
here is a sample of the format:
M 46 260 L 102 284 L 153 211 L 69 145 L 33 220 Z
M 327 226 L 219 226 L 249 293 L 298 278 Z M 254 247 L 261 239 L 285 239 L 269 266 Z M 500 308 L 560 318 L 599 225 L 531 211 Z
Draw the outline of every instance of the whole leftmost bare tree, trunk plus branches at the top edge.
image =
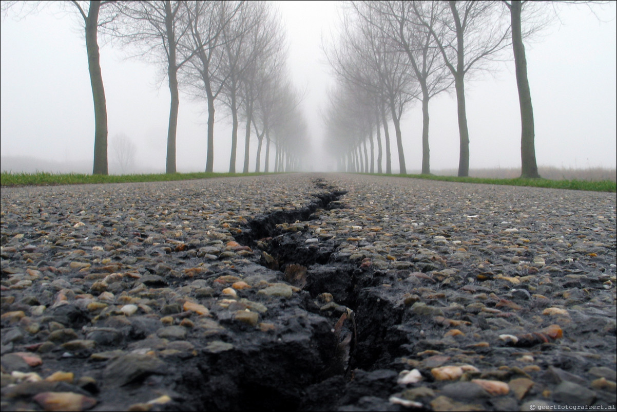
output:
M 86 38 L 86 54 L 88 55 L 88 71 L 94 101 L 94 161 L 93 174 L 106 175 L 107 172 L 107 104 L 105 89 L 101 74 L 101 58 L 97 35 L 99 27 L 112 22 L 116 17 L 116 9 L 111 7 L 115 1 L 63 1 L 62 5 L 77 12 L 83 22 Z M 3 1 L 2 11 L 17 9 L 21 4 L 19 14 L 29 14 L 36 11 L 41 2 Z

